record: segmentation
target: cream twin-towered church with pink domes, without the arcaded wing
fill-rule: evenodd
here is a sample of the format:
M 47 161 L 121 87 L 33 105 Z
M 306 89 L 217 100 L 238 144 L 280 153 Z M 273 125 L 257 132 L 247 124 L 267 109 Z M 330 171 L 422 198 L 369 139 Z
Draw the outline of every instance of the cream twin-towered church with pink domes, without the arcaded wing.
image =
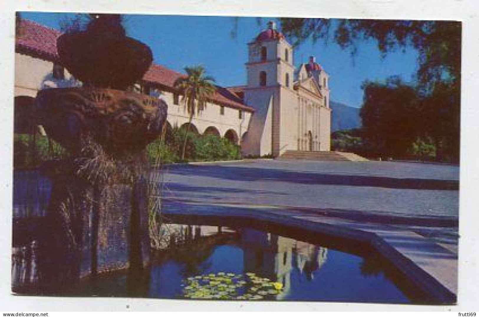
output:
M 315 58 L 295 71 L 293 48 L 274 22 L 248 44 L 248 52 L 243 100 L 256 111 L 243 153 L 276 157 L 286 150 L 329 151 L 329 76 Z

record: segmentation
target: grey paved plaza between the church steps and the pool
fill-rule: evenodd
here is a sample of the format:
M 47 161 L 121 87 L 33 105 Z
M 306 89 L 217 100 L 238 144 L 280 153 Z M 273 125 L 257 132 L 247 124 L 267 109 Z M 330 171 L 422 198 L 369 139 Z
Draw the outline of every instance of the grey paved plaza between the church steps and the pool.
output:
M 182 201 L 457 220 L 458 174 L 457 166 L 397 162 L 172 165 L 164 194 Z

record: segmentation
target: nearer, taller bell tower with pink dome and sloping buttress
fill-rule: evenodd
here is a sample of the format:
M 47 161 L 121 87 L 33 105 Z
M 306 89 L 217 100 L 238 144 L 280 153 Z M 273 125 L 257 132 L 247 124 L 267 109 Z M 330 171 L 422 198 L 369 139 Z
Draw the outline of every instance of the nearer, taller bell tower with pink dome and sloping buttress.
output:
M 293 48 L 276 30 L 274 21 L 248 44 L 247 85 L 244 101 L 256 109 L 248 137 L 242 145 L 244 154 L 274 157 L 281 152 L 282 98 L 293 92 L 295 67 Z

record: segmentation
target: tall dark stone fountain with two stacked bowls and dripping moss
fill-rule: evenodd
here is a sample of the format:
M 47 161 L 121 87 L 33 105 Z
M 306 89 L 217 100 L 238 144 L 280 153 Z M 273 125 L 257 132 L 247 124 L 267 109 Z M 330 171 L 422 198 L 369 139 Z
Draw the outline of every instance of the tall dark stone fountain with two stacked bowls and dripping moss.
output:
M 151 50 L 125 36 L 115 14 L 91 14 L 83 30 L 58 38 L 57 50 L 83 85 L 36 97 L 39 124 L 69 153 L 42 168 L 52 194 L 40 278 L 140 270 L 150 245 L 145 148 L 160 135 L 167 105 L 127 88 L 148 70 Z

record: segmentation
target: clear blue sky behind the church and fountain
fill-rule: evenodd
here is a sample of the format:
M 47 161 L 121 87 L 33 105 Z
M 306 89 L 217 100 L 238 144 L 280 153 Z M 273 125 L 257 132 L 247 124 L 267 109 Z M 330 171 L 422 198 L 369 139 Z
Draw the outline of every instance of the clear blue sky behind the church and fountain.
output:
M 23 12 L 26 19 L 59 29 L 66 13 Z M 271 18 L 240 17 L 237 36 L 232 37 L 235 19 L 218 16 L 180 15 L 125 15 L 125 29 L 129 36 L 148 44 L 154 63 L 182 71 L 185 66 L 203 65 L 209 75 L 221 86 L 243 85 L 246 82 L 245 63 L 247 43 L 266 27 Z M 313 44 L 306 42 L 295 50 L 294 64 L 307 62 L 308 56 L 330 74 L 331 100 L 352 107 L 361 107 L 365 80 L 382 81 L 399 75 L 411 81 L 417 67 L 417 53 L 412 49 L 388 54 L 382 59 L 374 41 L 359 46 L 358 54 L 351 56 L 330 41 Z

